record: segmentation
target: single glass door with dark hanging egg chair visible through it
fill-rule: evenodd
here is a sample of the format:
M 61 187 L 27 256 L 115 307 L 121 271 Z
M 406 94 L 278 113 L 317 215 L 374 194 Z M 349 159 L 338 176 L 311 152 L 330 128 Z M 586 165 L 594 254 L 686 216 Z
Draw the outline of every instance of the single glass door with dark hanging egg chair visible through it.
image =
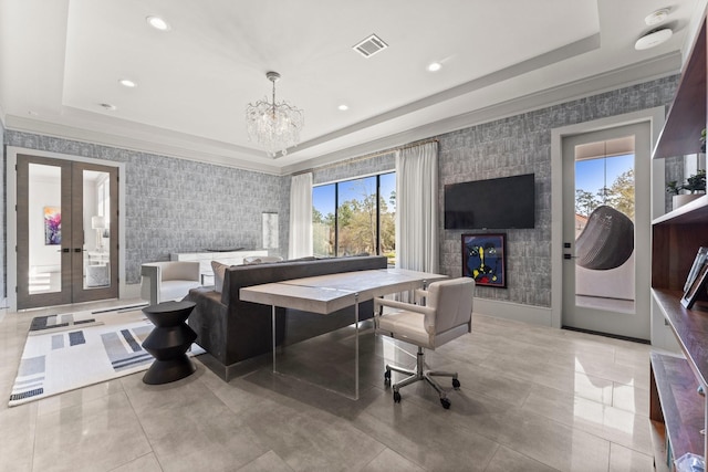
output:
M 564 137 L 562 326 L 648 340 L 650 135 Z

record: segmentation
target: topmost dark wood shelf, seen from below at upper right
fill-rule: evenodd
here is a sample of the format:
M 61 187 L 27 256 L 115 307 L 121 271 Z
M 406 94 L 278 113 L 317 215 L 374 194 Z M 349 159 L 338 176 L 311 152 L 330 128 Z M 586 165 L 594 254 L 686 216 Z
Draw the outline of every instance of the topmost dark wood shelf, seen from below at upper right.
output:
M 689 60 L 681 71 L 676 97 L 666 116 L 652 157 L 663 158 L 696 154 L 700 132 L 706 127 L 706 21 Z

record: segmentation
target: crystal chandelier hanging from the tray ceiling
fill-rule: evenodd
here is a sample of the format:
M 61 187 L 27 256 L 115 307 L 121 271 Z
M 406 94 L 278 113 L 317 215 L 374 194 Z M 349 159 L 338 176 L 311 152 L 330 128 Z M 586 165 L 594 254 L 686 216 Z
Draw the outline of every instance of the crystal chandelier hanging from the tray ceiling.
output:
M 268 72 L 266 77 L 273 83 L 273 102 L 259 99 L 256 104 L 249 103 L 246 107 L 246 128 L 249 140 L 258 143 L 268 156 L 274 158 L 278 151 L 285 156 L 289 147 L 300 143 L 304 113 L 287 102 L 275 102 L 275 81 L 280 78 L 278 72 Z

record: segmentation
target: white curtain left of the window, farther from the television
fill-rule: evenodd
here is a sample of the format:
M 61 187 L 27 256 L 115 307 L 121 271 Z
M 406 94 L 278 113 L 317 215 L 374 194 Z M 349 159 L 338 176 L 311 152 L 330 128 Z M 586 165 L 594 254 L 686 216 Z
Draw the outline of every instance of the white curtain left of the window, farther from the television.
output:
M 312 255 L 312 172 L 290 181 L 289 259 Z

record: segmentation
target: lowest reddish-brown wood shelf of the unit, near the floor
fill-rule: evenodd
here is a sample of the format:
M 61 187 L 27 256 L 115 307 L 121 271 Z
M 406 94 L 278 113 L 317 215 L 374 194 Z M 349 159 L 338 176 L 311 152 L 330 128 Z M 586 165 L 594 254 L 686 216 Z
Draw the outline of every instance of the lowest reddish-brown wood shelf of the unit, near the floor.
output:
M 652 378 L 660 401 L 660 413 L 653 405 L 652 433 L 668 437 L 668 453 L 671 460 L 686 452 L 702 455 L 704 397 L 698 395 L 698 384 L 688 361 L 680 357 L 652 353 Z M 666 444 L 666 442 L 664 442 Z M 666 463 L 666 453 L 655 458 L 655 462 Z M 658 470 L 658 468 L 657 468 Z

